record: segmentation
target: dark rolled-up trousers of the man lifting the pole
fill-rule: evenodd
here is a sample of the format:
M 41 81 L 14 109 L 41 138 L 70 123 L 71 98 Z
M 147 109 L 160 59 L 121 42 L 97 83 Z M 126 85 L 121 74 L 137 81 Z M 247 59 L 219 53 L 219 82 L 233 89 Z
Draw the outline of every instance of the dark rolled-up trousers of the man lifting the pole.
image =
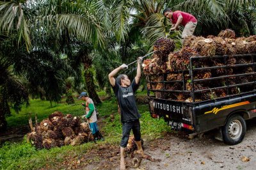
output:
M 140 121 L 139 120 L 124 122 L 122 129 L 123 129 L 123 131 L 122 131 L 123 137 L 122 137 L 122 141 L 120 143 L 120 146 L 122 148 L 125 148 L 127 146 L 131 130 L 134 134 L 135 141 L 141 140 Z

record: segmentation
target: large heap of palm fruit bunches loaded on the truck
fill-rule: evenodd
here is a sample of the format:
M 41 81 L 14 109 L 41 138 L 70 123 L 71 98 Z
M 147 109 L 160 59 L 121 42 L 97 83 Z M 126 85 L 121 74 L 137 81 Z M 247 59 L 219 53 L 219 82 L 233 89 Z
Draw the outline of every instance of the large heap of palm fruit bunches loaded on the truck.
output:
M 216 79 L 204 81 L 204 79 L 252 73 L 253 67 L 246 66 L 246 64 L 253 63 L 252 58 L 234 55 L 255 54 L 256 35 L 237 38 L 232 29 L 225 29 L 218 36 L 210 35 L 207 38 L 188 36 L 184 39 L 182 49 L 174 52 L 172 51 L 175 49 L 173 43 L 166 43 L 164 40 L 166 38 L 160 38 L 156 41 L 154 50 L 157 50 L 157 52 L 155 52 L 152 59 L 146 59 L 143 63 L 143 72 L 147 77 L 150 77 L 148 82 L 153 82 L 148 83 L 148 89 L 154 90 L 156 98 L 191 102 L 189 91 L 192 90 L 192 83 L 189 66 L 190 58 L 193 56 L 206 56 L 207 58 L 194 59 L 191 63 L 192 68 L 216 67 L 193 71 L 193 79 L 200 80 L 194 84 L 195 90 L 201 90 L 195 93 L 196 101 L 211 100 L 246 92 L 246 90 L 248 91 L 246 86 L 230 87 L 228 90 L 221 87 L 253 82 L 254 75 L 234 76 L 227 79 L 218 79 L 218 81 Z M 227 58 L 212 58 L 212 56 L 224 55 L 227 55 Z M 234 66 L 241 64 L 243 66 Z

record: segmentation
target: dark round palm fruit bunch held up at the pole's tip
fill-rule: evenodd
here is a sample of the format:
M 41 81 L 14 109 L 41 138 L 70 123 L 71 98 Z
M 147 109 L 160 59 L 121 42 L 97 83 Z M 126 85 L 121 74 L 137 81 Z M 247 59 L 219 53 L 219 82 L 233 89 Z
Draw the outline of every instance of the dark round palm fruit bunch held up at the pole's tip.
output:
M 168 56 L 170 52 L 173 52 L 175 49 L 175 43 L 173 40 L 168 38 L 159 38 L 154 43 L 154 50 L 157 50 L 155 53 L 160 58 L 164 58 L 165 56 Z

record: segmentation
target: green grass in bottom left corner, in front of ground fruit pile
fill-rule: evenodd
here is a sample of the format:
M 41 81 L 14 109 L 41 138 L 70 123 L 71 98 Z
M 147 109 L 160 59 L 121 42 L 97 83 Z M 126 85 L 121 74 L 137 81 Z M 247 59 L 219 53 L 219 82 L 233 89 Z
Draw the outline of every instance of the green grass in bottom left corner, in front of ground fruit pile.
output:
M 90 147 L 92 143 L 37 151 L 31 144 L 26 143 L 26 139 L 22 143 L 4 143 L 0 148 L 0 169 L 41 169 L 47 166 L 59 169 L 56 162 L 63 161 L 68 155 L 79 157 Z

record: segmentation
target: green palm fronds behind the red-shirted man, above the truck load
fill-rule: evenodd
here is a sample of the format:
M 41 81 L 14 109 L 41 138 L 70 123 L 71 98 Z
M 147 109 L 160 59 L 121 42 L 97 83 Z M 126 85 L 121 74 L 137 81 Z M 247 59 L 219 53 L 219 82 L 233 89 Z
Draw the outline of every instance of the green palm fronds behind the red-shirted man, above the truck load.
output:
M 162 10 L 166 7 L 173 11 L 181 10 L 192 13 L 198 19 L 196 34 L 212 33 L 216 28 L 218 30 L 231 25 L 234 27 L 234 20 L 239 18 L 239 27 L 249 30 L 249 23 L 244 22 L 244 14 L 241 9 L 250 11 L 250 20 L 253 21 L 252 29 L 255 30 L 255 1 L 253 0 L 129 0 L 114 1 L 114 25 L 116 33 L 120 35 L 120 40 L 126 40 L 131 26 L 140 27 L 140 32 L 145 38 L 149 38 L 152 45 L 158 38 L 165 36 L 170 28 L 170 22 L 166 22 L 162 15 Z M 234 16 L 234 12 L 236 12 Z M 131 14 L 134 12 L 135 14 Z M 133 19 L 131 19 L 133 17 Z M 132 22 L 132 21 L 133 22 Z M 233 21 L 233 22 L 232 22 Z M 132 24 L 130 23 L 132 22 Z M 251 30 L 252 30 L 251 29 Z M 207 31 L 207 32 L 206 32 Z M 177 39 L 175 35 L 170 34 L 170 38 Z

